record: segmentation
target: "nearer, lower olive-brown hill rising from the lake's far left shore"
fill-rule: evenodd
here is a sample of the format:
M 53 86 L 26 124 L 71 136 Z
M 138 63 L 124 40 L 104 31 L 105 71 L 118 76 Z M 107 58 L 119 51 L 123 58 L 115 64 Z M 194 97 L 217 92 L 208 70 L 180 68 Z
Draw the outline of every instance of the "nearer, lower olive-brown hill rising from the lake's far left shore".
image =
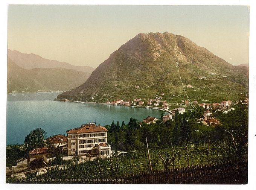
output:
M 12 91 L 70 90 L 81 85 L 90 73 L 66 68 L 33 68 L 27 70 L 7 60 L 7 93 Z

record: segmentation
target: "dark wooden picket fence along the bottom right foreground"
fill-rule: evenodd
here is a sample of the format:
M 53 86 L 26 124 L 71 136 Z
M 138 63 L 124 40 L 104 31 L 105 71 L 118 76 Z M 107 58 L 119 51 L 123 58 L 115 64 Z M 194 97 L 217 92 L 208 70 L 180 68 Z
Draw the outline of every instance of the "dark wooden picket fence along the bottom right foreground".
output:
M 139 172 L 120 178 L 125 184 L 247 184 L 247 167 L 247 162 L 221 162 Z

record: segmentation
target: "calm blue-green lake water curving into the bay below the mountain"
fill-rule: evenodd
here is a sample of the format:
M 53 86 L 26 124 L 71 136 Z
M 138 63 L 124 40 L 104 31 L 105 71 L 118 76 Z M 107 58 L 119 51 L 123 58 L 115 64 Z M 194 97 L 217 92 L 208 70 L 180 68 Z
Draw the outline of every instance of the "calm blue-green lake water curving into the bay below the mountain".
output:
M 86 122 L 111 125 L 114 120 L 121 125 L 122 121 L 128 124 L 130 117 L 142 121 L 147 116 L 160 118 L 163 112 L 128 106 L 53 101 L 58 94 L 8 94 L 6 144 L 23 144 L 26 135 L 36 128 L 44 129 L 49 137 L 66 134 L 66 130 L 80 127 Z

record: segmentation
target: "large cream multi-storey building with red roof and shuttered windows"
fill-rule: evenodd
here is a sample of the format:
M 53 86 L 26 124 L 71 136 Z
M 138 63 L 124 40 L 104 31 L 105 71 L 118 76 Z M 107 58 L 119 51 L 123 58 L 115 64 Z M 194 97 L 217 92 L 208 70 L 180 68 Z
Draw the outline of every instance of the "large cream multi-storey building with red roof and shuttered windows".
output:
M 111 147 L 107 143 L 108 130 L 96 123 L 86 123 L 79 128 L 67 130 L 68 155 L 110 156 Z

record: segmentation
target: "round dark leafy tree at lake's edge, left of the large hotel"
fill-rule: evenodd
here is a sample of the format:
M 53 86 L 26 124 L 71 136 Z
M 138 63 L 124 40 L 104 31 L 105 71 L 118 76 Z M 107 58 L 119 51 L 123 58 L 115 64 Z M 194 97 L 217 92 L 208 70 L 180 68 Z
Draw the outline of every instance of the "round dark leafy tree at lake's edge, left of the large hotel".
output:
M 34 129 L 25 137 L 24 144 L 26 145 L 26 153 L 30 150 L 41 148 L 46 145 L 45 142 L 46 132 L 44 129 Z

